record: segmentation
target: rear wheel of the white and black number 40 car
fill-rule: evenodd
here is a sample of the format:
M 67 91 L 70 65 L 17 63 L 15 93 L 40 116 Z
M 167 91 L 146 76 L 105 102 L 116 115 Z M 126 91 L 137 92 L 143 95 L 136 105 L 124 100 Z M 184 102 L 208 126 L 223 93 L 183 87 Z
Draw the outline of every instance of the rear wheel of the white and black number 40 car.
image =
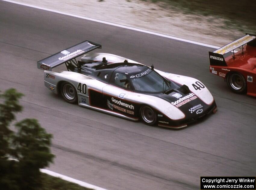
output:
M 64 98 L 65 101 L 67 101 L 70 104 L 76 104 L 77 103 L 77 93 L 75 87 L 68 82 L 61 83 L 61 95 Z

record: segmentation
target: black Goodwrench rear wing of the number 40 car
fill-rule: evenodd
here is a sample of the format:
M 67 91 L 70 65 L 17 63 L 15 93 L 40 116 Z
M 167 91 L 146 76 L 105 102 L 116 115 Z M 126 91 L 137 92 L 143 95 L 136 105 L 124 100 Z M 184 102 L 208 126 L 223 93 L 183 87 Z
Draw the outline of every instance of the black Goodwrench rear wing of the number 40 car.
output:
M 63 63 L 67 63 L 68 61 L 97 48 L 101 48 L 101 45 L 86 40 L 47 58 L 37 61 L 37 68 L 42 70 L 52 70 L 54 67 L 57 67 Z

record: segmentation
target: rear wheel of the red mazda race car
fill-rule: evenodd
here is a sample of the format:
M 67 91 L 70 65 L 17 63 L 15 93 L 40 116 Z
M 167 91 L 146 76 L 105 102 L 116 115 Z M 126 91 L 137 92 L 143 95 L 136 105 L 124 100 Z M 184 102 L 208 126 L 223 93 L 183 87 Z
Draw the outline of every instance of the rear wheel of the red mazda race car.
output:
M 241 73 L 230 73 L 227 76 L 227 84 L 229 88 L 238 94 L 246 92 L 246 81 L 245 77 Z

